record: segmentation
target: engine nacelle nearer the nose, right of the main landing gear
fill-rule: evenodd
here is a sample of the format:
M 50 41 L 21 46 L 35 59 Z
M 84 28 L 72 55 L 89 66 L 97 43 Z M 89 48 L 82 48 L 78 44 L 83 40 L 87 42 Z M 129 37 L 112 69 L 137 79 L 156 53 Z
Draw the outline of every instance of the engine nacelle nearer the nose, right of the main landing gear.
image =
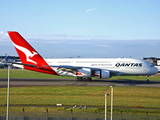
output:
M 98 71 L 95 71 L 94 76 L 96 78 L 110 78 L 110 71 L 98 70 Z

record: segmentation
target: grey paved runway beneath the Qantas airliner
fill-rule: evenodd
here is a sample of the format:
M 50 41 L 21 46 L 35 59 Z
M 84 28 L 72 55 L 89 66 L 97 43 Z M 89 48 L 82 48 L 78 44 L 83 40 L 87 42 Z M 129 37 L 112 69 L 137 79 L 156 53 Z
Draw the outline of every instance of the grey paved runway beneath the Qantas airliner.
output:
M 0 88 L 6 88 L 7 78 L 0 78 Z M 40 78 L 11 78 L 10 87 L 31 86 L 119 86 L 119 87 L 160 87 L 159 81 L 140 80 L 93 80 L 75 81 L 74 79 L 40 79 Z

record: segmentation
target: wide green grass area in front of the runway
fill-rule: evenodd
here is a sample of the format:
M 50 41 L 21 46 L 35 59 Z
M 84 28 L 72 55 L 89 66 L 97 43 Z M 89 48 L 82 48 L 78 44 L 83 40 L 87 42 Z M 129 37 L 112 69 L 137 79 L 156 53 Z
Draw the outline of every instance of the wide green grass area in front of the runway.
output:
M 50 105 L 63 104 L 73 106 L 76 104 L 104 107 L 104 95 L 110 93 L 108 87 L 75 87 L 75 86 L 54 86 L 54 87 L 17 87 L 10 89 L 10 105 Z M 114 106 L 143 108 L 160 108 L 159 88 L 145 87 L 114 87 Z M 0 105 L 6 105 L 7 89 L 0 89 Z M 108 106 L 110 106 L 110 95 Z M 52 108 L 53 109 L 53 108 Z M 61 108 L 61 110 L 71 108 Z M 92 108 L 104 112 L 104 108 Z M 0 108 L 0 111 L 3 109 Z M 45 109 L 44 109 L 45 110 Z M 115 109 L 115 111 L 128 112 L 128 109 Z M 132 110 L 137 112 L 137 110 Z M 146 111 L 146 110 L 145 110 Z M 144 111 L 143 111 L 144 112 Z M 158 112 L 160 114 L 160 111 Z

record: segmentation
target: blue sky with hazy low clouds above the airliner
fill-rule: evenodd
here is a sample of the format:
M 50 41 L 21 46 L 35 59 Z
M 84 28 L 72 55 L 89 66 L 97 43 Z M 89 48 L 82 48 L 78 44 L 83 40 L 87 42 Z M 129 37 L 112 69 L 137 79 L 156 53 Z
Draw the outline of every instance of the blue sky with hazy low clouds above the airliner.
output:
M 43 57 L 160 57 L 159 0 L 0 3 L 0 55 L 17 55 L 7 31 L 18 31 Z

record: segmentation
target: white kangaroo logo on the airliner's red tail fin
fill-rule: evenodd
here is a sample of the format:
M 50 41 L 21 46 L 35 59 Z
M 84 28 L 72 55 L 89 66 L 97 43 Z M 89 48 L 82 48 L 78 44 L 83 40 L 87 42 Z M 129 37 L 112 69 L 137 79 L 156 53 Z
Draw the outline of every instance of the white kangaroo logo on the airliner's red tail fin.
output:
M 32 62 L 34 64 L 37 64 L 35 61 L 31 60 L 30 58 L 32 58 L 34 55 L 37 55 L 38 53 L 36 53 L 35 51 L 30 52 L 28 49 L 21 47 L 19 45 L 16 45 L 15 43 L 13 43 L 13 45 L 20 51 L 22 51 L 25 55 L 26 55 L 26 61 L 28 62 Z

